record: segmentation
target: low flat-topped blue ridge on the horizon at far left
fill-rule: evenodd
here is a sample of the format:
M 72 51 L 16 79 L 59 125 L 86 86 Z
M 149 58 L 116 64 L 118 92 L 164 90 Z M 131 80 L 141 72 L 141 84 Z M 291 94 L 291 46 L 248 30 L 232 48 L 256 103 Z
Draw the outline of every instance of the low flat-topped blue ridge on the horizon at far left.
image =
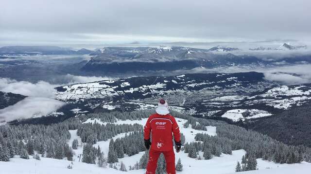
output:
M 59 46 L 3 46 L 0 55 L 3 56 L 33 56 L 33 55 L 84 55 L 93 51 L 82 48 L 78 51 Z

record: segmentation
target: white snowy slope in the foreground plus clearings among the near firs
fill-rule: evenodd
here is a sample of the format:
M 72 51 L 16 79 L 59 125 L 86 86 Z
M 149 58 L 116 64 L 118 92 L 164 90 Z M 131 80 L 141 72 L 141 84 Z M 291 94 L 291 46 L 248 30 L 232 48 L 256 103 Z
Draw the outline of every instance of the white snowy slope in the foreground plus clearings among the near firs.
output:
M 241 111 L 240 111 L 241 112 Z M 98 119 L 87 119 L 84 123 L 94 123 L 106 124 Z M 114 124 L 141 124 L 144 125 L 147 121 L 147 118 L 141 120 L 117 120 Z M 176 118 L 176 121 L 180 127 L 180 131 L 185 135 L 186 142 L 194 141 L 194 136 L 197 133 L 207 133 L 212 136 L 217 136 L 216 127 L 207 126 L 207 131 L 198 131 L 191 129 L 191 125 L 188 128 L 184 128 L 183 124 L 187 120 Z M 71 138 L 68 141 L 69 145 L 72 144 L 74 139 L 78 139 L 79 145 L 78 149 L 74 151 L 73 162 L 67 160 L 55 160 L 48 158 L 41 158 L 41 160 L 35 160 L 30 156 L 29 160 L 20 159 L 16 156 L 13 159 L 10 159 L 9 162 L 0 162 L 0 174 L 121 174 L 123 172 L 107 168 L 100 168 L 94 164 L 87 164 L 79 162 L 79 156 L 83 151 L 83 144 L 81 138 L 77 136 L 77 130 L 70 130 Z M 125 136 L 126 133 L 120 133 L 113 139 Z M 97 142 L 94 146 L 100 146 L 102 152 L 105 156 L 108 154 L 109 141 Z M 124 158 L 119 159 L 119 163 L 123 162 L 127 169 L 129 165 L 133 166 L 144 152 L 128 157 L 125 155 Z M 203 152 L 199 152 L 199 155 L 202 157 Z M 237 161 L 241 162 L 242 156 L 245 155 L 244 150 L 235 150 L 232 151 L 232 155 L 222 154 L 220 157 L 213 157 L 211 160 L 197 160 L 188 157 L 188 153 L 181 151 L 180 153 L 175 153 L 175 160 L 180 158 L 183 164 L 183 171 L 178 172 L 179 174 L 230 174 L 234 173 L 235 166 Z M 82 159 L 82 158 L 81 158 Z M 302 162 L 301 164 L 276 164 L 274 162 L 269 162 L 261 159 L 257 159 L 258 162 L 258 171 L 243 172 L 249 174 L 293 174 L 294 171 L 299 171 L 299 174 L 309 174 L 311 171 L 311 164 L 307 162 Z M 72 165 L 72 169 L 67 169 L 68 165 Z M 143 174 L 144 170 L 134 170 L 128 171 L 131 174 Z

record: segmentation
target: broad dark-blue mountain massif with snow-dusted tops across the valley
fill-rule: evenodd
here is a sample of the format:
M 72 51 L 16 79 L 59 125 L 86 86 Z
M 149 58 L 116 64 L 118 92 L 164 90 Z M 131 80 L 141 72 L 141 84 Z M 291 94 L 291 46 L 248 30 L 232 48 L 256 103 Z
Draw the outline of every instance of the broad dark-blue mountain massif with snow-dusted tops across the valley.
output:
M 197 49 L 181 46 L 160 47 L 104 47 L 91 53 L 92 57 L 82 70 L 96 73 L 139 73 L 150 71 L 191 70 L 194 68 L 215 68 L 237 65 L 270 65 L 282 61 L 294 64 L 296 61 L 311 62 L 311 55 L 296 58 L 269 60 L 249 55 L 234 55 L 237 48 L 216 46 Z M 270 50 L 259 47 L 254 50 Z M 222 53 L 219 53 L 222 52 Z M 218 54 L 219 53 L 219 54 Z

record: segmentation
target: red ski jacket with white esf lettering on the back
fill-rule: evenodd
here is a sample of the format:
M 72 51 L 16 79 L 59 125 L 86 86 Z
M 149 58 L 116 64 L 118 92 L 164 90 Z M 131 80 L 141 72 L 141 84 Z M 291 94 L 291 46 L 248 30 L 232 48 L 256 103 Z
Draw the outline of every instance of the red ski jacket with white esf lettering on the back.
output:
M 173 116 L 153 114 L 149 116 L 144 127 L 144 139 L 150 139 L 152 134 L 151 149 L 155 151 L 173 150 L 173 135 L 175 142 L 180 142 L 178 124 Z

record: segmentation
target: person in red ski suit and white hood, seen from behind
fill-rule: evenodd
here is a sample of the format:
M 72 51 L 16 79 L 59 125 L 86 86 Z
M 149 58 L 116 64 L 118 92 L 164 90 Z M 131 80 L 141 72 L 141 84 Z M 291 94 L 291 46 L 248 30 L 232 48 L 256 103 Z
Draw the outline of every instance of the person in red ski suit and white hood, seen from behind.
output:
M 144 127 L 144 141 L 149 151 L 149 160 L 146 174 L 155 174 L 157 160 L 163 153 L 166 161 L 167 174 L 175 174 L 175 154 L 173 151 L 173 135 L 175 149 L 178 153 L 181 148 L 180 132 L 177 122 L 168 110 L 168 103 L 161 99 L 155 109 L 156 113 L 149 116 Z M 150 133 L 152 142 L 150 142 Z M 173 135 L 172 135 L 173 134 Z

